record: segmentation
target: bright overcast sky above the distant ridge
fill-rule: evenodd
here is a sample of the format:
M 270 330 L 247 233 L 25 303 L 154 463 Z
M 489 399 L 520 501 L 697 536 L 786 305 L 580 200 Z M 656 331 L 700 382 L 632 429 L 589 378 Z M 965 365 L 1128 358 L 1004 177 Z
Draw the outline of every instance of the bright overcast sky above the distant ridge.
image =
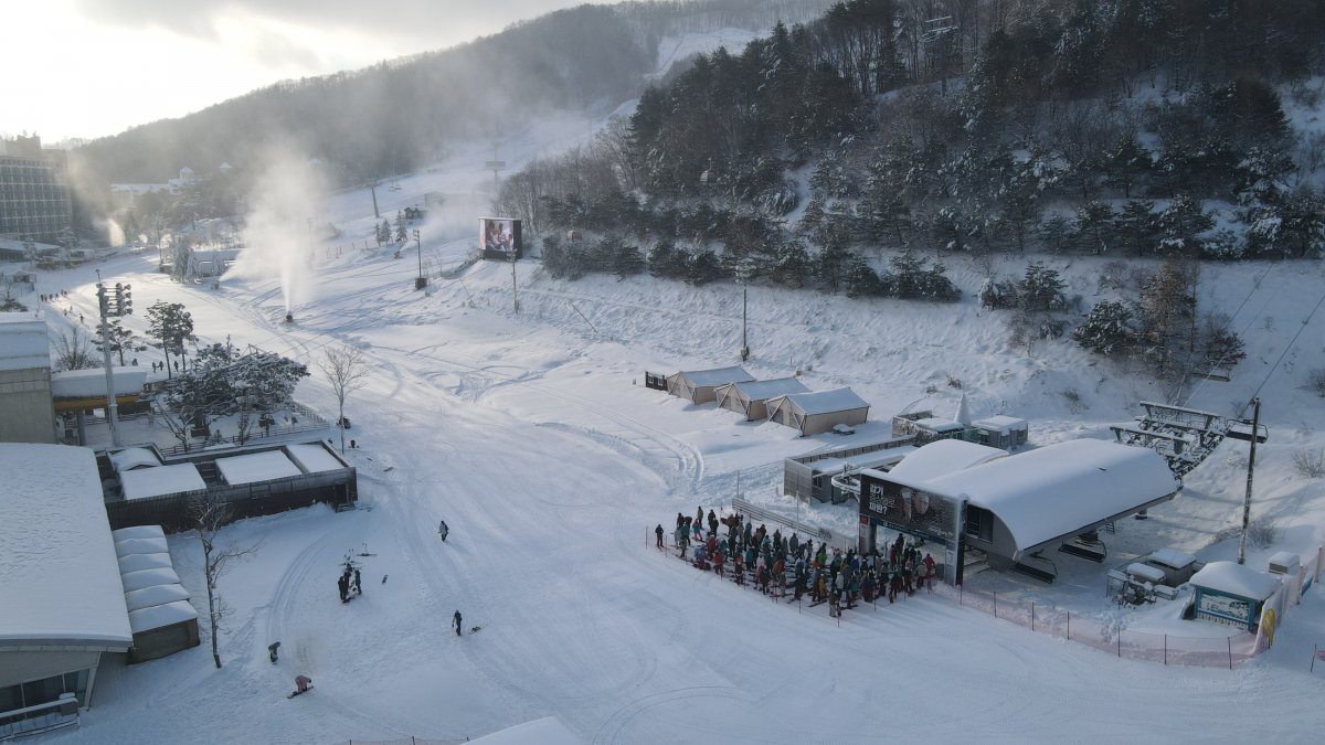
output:
M 445 49 L 584 0 L 13 0 L 0 134 L 46 144 L 180 117 L 286 78 Z

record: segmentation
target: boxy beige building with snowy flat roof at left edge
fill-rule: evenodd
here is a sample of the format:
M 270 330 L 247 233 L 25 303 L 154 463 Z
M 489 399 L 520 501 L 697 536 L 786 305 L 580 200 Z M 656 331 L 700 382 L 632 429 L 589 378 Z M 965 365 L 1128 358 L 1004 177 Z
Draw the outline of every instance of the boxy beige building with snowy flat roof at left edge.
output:
M 40 313 L 0 313 L 0 441 L 56 441 L 49 347 Z

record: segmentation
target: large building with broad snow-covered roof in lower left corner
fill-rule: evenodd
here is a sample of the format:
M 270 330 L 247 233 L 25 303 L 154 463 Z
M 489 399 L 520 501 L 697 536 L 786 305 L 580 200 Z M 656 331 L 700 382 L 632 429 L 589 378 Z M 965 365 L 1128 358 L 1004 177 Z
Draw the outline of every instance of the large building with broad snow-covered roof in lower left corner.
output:
M 77 721 L 102 654 L 127 651 L 132 632 L 93 451 L 0 443 L 0 473 L 3 740 Z

